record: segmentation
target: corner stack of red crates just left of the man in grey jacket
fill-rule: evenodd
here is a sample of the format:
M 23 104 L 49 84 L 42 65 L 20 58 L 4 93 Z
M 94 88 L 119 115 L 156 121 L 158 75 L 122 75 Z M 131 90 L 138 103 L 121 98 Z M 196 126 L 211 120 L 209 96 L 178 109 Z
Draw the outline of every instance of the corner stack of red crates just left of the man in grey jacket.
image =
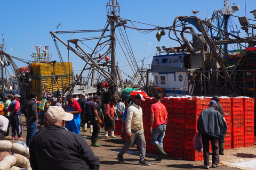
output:
M 203 160 L 203 152 L 198 152 L 193 147 L 193 138 L 197 131 L 197 120 L 203 109 L 208 108 L 207 98 L 187 98 L 185 105 L 185 160 Z

